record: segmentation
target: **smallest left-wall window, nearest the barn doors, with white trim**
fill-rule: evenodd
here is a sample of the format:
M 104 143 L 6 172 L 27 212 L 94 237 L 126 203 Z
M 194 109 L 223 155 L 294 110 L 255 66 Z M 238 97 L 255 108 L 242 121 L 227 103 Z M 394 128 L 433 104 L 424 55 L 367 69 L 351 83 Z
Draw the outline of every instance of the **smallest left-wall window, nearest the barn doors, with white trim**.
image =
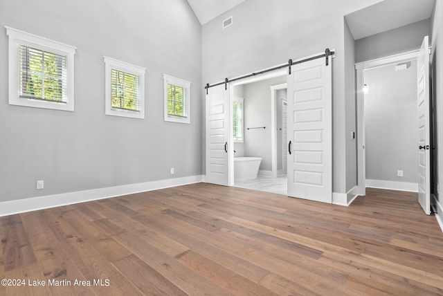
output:
M 186 80 L 163 74 L 165 121 L 190 123 L 190 86 Z

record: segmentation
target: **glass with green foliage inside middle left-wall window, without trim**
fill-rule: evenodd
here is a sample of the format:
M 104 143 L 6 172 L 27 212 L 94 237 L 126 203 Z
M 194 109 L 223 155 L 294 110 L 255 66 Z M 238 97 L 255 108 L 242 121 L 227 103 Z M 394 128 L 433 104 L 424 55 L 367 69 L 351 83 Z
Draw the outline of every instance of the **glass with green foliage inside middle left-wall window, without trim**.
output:
M 138 75 L 111 69 L 111 107 L 139 111 Z

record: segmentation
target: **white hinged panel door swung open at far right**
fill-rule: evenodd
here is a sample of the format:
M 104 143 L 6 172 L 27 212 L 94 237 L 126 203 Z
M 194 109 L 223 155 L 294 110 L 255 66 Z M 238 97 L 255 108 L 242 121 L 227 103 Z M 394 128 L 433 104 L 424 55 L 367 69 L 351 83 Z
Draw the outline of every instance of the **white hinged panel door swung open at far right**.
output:
M 418 106 L 418 202 L 426 214 L 431 214 L 430 106 L 429 106 L 429 49 L 428 36 L 424 37 L 417 56 Z

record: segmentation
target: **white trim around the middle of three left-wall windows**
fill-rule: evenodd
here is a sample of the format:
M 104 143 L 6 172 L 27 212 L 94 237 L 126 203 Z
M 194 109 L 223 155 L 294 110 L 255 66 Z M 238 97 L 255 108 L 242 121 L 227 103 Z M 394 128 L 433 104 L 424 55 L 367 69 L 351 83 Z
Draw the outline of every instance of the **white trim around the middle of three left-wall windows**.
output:
M 145 119 L 145 73 L 146 68 L 103 56 L 105 61 L 105 114 L 127 118 Z M 114 108 L 111 104 L 111 69 L 138 76 L 139 111 Z

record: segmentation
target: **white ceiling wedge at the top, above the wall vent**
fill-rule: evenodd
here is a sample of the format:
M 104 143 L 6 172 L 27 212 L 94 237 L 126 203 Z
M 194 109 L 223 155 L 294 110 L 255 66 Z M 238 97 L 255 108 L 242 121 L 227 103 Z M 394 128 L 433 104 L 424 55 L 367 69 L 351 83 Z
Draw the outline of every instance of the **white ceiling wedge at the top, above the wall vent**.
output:
M 192 10 L 194 10 L 195 15 L 197 15 L 200 24 L 204 25 L 243 1 L 244 0 L 188 0 L 188 3 Z

